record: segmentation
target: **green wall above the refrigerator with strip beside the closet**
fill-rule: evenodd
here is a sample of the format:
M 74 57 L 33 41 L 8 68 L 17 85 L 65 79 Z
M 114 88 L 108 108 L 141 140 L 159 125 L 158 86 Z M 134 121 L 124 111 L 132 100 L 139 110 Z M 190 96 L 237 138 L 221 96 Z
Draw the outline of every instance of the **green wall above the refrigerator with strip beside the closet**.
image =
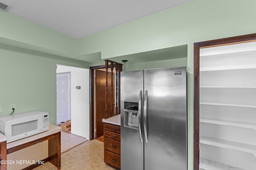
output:
M 255 0 L 192 0 L 189 3 L 77 39 L 77 54 L 101 51 L 102 59 L 111 60 L 112 57 L 188 45 L 186 64 L 188 70 L 188 170 L 192 170 L 194 43 L 255 33 L 255 6 Z M 127 64 L 126 68 L 130 70 L 149 68 L 154 67 L 153 63 Z M 170 63 L 163 63 L 163 67 L 172 66 Z

